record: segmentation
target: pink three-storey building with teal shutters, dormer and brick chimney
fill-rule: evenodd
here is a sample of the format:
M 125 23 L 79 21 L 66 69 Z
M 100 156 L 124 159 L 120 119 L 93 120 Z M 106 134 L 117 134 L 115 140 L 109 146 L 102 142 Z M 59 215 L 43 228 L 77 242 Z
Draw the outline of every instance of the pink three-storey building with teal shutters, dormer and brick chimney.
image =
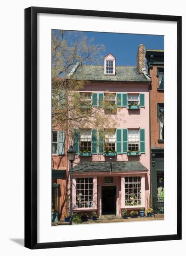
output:
M 73 168 L 73 212 L 121 216 L 122 209 L 140 210 L 150 203 L 149 78 L 145 46 L 137 66 L 116 66 L 106 55 L 103 66 L 78 66 L 73 79 L 89 81 L 84 93 L 93 108 L 101 101 L 117 106 L 113 129 L 76 131 Z M 108 93 L 109 92 L 109 93 Z M 104 111 L 104 110 L 103 110 Z

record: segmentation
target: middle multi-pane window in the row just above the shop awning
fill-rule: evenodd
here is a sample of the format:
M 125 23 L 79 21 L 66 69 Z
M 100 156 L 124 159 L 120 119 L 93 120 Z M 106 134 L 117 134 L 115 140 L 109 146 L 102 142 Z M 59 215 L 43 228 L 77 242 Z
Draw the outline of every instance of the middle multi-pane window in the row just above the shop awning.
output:
M 105 152 L 115 152 L 116 148 L 116 131 L 115 129 L 105 129 Z

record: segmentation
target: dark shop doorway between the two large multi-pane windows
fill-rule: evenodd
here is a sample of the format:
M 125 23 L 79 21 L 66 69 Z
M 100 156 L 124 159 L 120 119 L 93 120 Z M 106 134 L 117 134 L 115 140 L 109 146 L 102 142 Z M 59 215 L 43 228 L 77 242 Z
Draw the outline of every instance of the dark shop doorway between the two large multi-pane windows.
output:
M 102 186 L 102 215 L 116 214 L 116 186 Z

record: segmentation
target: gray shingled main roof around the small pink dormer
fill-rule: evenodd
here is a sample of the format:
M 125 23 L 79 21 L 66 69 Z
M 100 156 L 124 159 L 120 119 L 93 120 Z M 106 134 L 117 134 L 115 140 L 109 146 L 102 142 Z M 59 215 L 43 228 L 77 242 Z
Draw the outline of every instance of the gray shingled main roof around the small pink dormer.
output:
M 79 66 L 72 78 L 89 81 L 147 81 L 144 74 L 138 74 L 136 66 L 116 66 L 116 75 L 104 75 L 104 66 Z

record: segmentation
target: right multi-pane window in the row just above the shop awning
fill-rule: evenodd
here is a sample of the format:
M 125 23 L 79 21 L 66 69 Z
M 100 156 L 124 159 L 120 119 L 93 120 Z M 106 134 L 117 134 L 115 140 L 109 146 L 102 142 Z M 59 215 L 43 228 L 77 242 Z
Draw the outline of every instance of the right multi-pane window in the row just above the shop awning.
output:
M 128 150 L 139 151 L 139 130 L 128 129 Z

